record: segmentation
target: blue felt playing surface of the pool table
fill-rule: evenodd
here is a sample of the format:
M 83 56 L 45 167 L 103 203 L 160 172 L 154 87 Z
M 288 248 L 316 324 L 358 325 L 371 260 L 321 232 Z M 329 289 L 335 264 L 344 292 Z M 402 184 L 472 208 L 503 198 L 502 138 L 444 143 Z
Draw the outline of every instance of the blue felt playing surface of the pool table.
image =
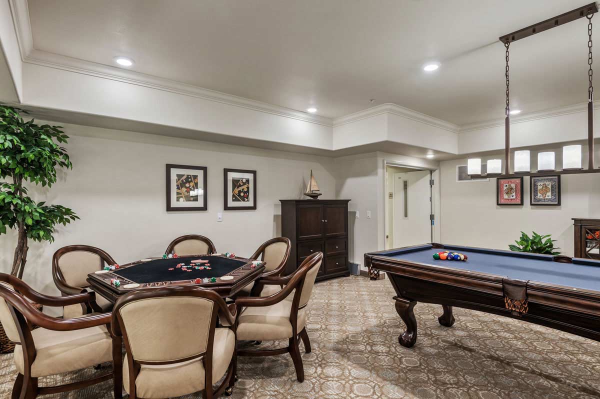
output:
M 402 253 L 401 250 L 390 250 L 388 253 L 380 255 L 427 265 L 497 274 L 518 280 L 539 281 L 541 283 L 600 291 L 600 262 L 581 260 L 582 263 L 587 264 L 559 263 L 553 262 L 551 256 L 533 255 L 531 258 L 527 258 L 518 256 L 517 253 L 511 254 L 509 251 L 490 250 L 490 253 L 479 253 L 475 252 L 477 250 L 475 248 L 473 248 L 473 251 L 469 251 L 467 248 L 445 245 L 444 249 L 438 249 L 432 248 L 431 245 L 421 245 L 413 247 L 415 251 L 412 252 Z M 434 260 L 433 254 L 440 251 L 459 252 L 465 254 L 468 260 L 467 262 Z

